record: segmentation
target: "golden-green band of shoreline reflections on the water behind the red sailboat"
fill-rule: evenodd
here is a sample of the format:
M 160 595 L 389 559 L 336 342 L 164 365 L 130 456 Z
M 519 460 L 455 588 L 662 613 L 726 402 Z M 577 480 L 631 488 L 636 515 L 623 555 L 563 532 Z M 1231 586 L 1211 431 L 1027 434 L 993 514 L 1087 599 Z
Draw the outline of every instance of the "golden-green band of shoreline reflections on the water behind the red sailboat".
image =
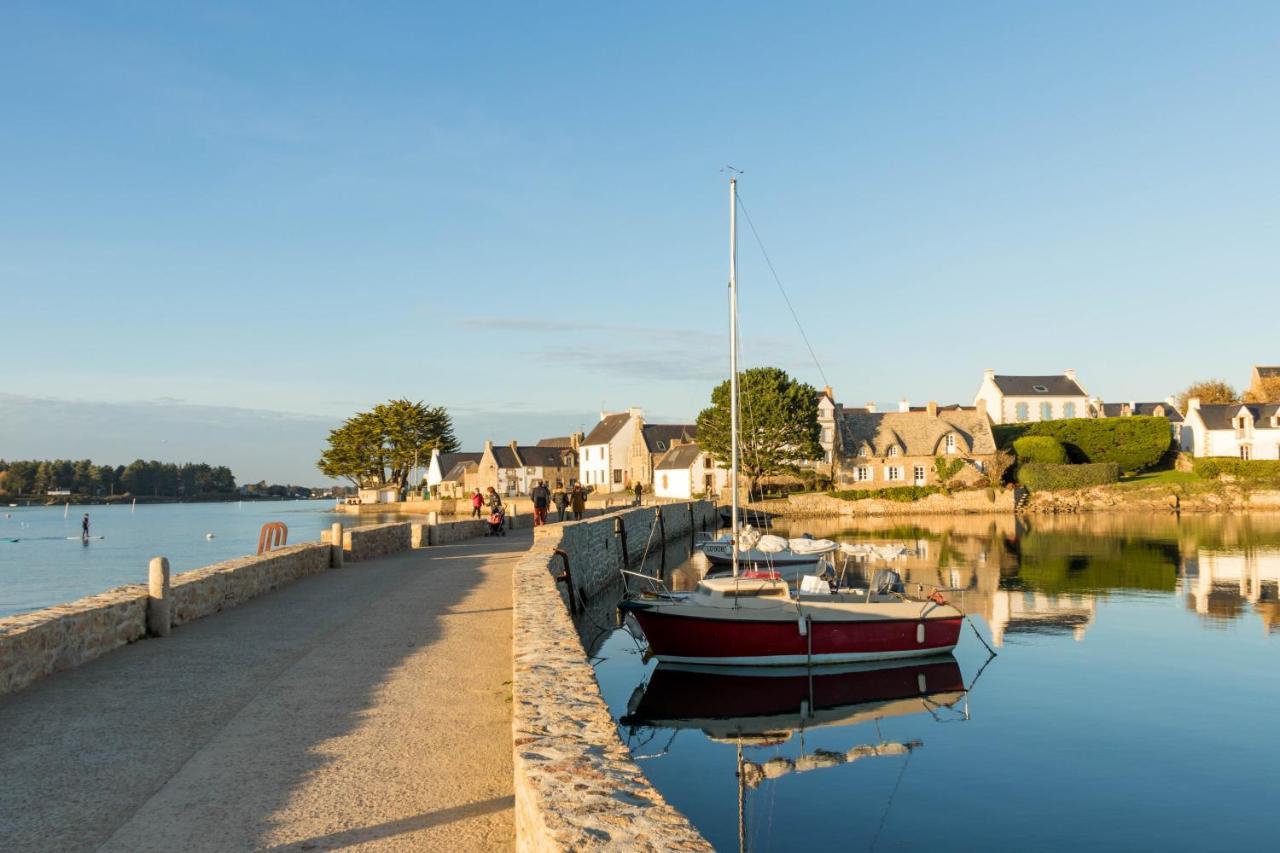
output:
M 1098 602 L 1116 590 L 1187 593 L 1206 625 L 1251 613 L 1280 630 L 1280 517 L 960 516 L 780 521 L 782 535 L 906 548 L 890 564 L 908 584 L 948 590 L 980 615 L 997 646 L 1016 634 L 1084 638 Z M 882 564 L 852 562 L 855 578 Z M 694 557 L 672 574 L 691 589 L 708 570 Z

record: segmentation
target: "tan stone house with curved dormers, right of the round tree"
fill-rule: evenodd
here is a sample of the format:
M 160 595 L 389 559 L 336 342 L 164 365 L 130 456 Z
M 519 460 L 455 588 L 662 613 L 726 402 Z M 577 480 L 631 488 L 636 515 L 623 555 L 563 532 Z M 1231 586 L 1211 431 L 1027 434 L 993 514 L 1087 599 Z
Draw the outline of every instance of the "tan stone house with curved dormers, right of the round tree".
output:
M 844 410 L 837 488 L 938 485 L 938 457 L 961 461 L 948 479 L 972 483 L 986 475 L 996 457 L 996 439 L 983 409 L 938 409 L 933 402 L 923 410 L 902 409 Z

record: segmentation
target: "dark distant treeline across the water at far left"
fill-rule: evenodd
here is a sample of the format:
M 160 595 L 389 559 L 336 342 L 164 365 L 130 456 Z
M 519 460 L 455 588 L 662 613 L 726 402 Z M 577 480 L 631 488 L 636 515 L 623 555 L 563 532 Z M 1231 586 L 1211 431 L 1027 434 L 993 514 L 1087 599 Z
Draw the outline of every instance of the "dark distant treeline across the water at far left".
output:
M 52 489 L 108 497 L 201 497 L 234 494 L 236 476 L 225 465 L 134 460 L 128 465 L 95 465 L 91 460 L 0 460 L 0 493 L 45 496 Z

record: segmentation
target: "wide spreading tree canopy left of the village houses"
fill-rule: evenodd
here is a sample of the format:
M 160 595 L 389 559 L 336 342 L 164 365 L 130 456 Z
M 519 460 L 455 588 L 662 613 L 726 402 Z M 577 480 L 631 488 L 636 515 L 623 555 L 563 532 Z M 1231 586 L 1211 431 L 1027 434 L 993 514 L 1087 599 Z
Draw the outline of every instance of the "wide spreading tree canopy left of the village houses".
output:
M 404 488 L 415 459 L 425 464 L 433 450 L 458 450 L 449 412 L 443 406 L 390 400 L 371 411 L 356 412 L 330 430 L 329 446 L 316 466 L 357 487 Z

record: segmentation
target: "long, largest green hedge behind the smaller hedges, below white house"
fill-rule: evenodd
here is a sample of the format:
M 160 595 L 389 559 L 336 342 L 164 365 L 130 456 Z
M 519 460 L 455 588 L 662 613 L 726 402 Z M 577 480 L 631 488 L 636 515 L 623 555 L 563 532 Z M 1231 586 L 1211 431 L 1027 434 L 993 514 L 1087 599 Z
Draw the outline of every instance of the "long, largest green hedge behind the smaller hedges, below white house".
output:
M 1023 435 L 1056 438 L 1071 462 L 1115 462 L 1121 471 L 1140 471 L 1156 465 L 1172 446 L 1167 418 L 1071 418 L 1034 424 L 1001 424 L 995 428 L 1001 447 Z

